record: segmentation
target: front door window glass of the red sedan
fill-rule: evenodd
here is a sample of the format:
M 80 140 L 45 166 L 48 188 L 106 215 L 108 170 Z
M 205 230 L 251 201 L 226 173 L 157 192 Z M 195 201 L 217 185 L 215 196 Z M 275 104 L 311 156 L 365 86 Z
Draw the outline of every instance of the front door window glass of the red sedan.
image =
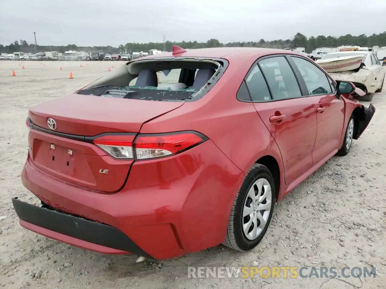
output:
M 291 58 L 303 76 L 309 95 L 332 93 L 330 82 L 319 67 L 300 57 L 291 56 Z

